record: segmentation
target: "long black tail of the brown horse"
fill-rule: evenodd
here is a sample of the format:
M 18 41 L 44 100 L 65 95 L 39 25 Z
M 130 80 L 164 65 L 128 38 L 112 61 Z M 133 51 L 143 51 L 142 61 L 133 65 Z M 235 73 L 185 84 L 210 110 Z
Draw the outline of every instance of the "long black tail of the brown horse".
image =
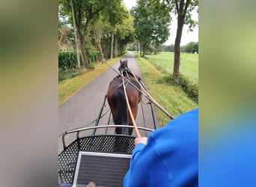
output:
M 124 90 L 118 88 L 117 92 L 117 107 L 113 114 L 113 120 L 116 125 L 128 125 L 128 108 L 127 101 L 125 99 Z M 128 128 L 116 128 L 117 134 L 129 135 Z

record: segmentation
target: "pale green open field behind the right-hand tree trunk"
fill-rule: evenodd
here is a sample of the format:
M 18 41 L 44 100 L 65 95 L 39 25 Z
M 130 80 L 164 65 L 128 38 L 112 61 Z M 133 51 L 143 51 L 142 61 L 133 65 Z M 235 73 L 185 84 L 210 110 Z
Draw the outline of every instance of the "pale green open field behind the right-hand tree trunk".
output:
M 174 53 L 160 52 L 157 55 L 146 55 L 150 62 L 159 67 L 162 73 L 173 73 Z M 180 53 L 180 73 L 198 83 L 198 54 Z

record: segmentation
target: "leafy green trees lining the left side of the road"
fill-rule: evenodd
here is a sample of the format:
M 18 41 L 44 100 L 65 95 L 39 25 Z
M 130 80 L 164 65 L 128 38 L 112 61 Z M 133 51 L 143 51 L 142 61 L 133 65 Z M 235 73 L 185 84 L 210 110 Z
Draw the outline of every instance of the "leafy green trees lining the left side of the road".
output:
M 74 25 L 70 1 L 58 0 L 59 19 L 64 20 L 66 25 Z M 95 55 L 91 59 L 88 56 L 95 50 L 100 52 L 101 59 L 112 58 L 114 49 L 115 57 L 125 52 L 127 43 L 133 41 L 134 28 L 132 16 L 121 0 L 72 2 L 80 43 L 79 51 L 85 67 L 91 67 L 90 62 L 95 60 Z

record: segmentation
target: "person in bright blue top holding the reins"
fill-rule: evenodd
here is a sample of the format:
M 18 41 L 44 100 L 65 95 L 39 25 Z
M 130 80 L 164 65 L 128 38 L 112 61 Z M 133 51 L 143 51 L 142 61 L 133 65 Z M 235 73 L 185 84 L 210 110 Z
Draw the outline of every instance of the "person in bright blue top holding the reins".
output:
M 198 108 L 135 138 L 124 187 L 198 186 Z

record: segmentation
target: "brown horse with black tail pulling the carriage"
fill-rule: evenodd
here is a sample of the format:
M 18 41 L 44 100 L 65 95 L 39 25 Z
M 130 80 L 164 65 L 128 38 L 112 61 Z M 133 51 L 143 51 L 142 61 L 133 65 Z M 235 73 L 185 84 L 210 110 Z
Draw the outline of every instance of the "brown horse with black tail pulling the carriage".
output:
M 127 78 L 129 82 L 131 82 L 137 88 L 141 89 L 137 80 L 128 68 L 127 59 L 125 61 L 120 60 L 120 67 L 118 68 L 118 70 L 120 71 L 120 73 L 123 73 L 123 76 Z M 115 79 L 113 79 L 112 82 L 109 83 L 107 99 L 115 125 L 133 126 L 132 118 L 130 117 L 126 98 L 124 95 L 124 86 L 122 79 L 122 76 L 116 76 Z M 138 103 L 141 102 L 141 93 L 129 82 L 124 79 L 124 85 L 127 91 L 129 105 L 135 119 L 138 112 Z M 132 135 L 132 128 L 118 127 L 115 129 L 115 133 L 121 135 Z

